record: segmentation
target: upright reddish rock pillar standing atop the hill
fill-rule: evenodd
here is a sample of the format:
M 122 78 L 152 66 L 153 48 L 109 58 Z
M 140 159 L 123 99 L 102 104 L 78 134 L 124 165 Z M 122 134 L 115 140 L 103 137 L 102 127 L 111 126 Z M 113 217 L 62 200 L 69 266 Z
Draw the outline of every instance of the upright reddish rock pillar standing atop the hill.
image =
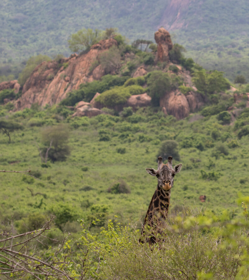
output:
M 157 43 L 157 59 L 168 61 L 169 51 L 173 48 L 169 32 L 161 27 L 155 32 L 154 38 Z

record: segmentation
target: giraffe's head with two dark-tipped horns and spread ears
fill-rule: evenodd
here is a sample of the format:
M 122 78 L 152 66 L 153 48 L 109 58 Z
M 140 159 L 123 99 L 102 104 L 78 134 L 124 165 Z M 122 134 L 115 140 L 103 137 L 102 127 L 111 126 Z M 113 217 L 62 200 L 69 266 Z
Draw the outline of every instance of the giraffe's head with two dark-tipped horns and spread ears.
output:
M 180 172 L 182 164 L 179 163 L 172 168 L 172 156 L 168 157 L 166 164 L 162 163 L 162 157 L 158 157 L 157 170 L 146 168 L 148 174 L 156 176 L 161 189 L 168 191 L 173 187 L 175 174 Z

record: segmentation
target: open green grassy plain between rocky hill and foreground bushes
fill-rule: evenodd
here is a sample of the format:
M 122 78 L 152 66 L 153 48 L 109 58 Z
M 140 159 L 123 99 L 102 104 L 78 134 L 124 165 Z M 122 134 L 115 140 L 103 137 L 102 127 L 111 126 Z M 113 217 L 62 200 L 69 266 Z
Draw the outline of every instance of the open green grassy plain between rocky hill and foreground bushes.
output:
M 27 126 L 28 119 L 21 120 L 19 117 L 25 129 L 14 132 L 11 143 L 7 142 L 5 135 L 0 135 L 0 170 L 30 168 L 41 173 L 41 181 L 31 182 L 23 179 L 24 175 L 0 173 L 0 208 L 4 213 L 2 219 L 14 215 L 17 227 L 18 221 L 28 213 L 39 211 L 48 214 L 54 205 L 60 203 L 71 207 L 78 217 L 94 215 L 91 213 L 92 205 L 108 205 L 105 219 L 118 215 L 124 223 L 142 220 L 157 186 L 156 179 L 147 175 L 145 168 L 156 168 L 157 152 L 161 142 L 167 139 L 178 142 L 180 162 L 183 164 L 181 172 L 175 177 L 170 211 L 182 205 L 200 208 L 203 204 L 199 196 L 206 195 L 209 210 L 219 213 L 227 208 L 233 212 L 237 207 L 237 192 L 249 195 L 249 187 L 245 183 L 248 179 L 248 136 L 238 140 L 233 126 L 218 124 L 216 116 L 190 122 L 188 118 L 176 121 L 171 116 L 164 117 L 158 113 L 143 118 L 145 122 L 138 124 L 129 123 L 128 119 L 121 117 L 93 117 L 89 119 L 88 126 L 71 128 L 68 143 L 71 155 L 64 162 L 50 163 L 48 168 L 41 167 L 35 144 L 35 141 L 40 141 L 42 128 Z M 68 118 L 62 122 L 70 125 L 73 119 Z M 210 136 L 215 126 L 221 135 L 230 133 L 223 145 L 237 139 L 238 147 L 228 148 L 228 155 L 215 154 L 215 146 L 222 144 L 220 138 L 214 140 Z M 99 141 L 98 132 L 103 128 L 110 135 L 110 141 Z M 128 133 L 127 138 L 120 138 L 125 133 Z M 196 147 L 181 148 L 183 138 L 200 135 L 214 147 L 204 148 L 203 151 Z M 118 153 L 118 148 L 125 148 L 125 153 Z M 173 165 L 180 162 L 173 159 Z M 204 180 L 201 170 L 218 174 L 218 179 Z M 107 191 L 119 180 L 125 181 L 131 190 L 130 194 L 111 194 Z M 33 193 L 40 192 L 46 196 L 32 196 L 27 188 Z M 37 208 L 41 198 L 42 204 Z

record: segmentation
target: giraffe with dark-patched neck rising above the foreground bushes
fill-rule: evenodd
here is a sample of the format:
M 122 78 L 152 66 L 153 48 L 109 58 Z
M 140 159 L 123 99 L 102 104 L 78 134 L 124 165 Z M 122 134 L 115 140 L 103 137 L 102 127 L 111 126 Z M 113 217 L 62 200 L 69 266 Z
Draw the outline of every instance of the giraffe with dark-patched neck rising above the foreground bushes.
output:
M 176 173 L 181 170 L 182 164 L 177 164 L 172 168 L 172 156 L 168 157 L 167 164 L 162 163 L 162 157 L 158 157 L 157 170 L 154 168 L 146 168 L 148 174 L 157 177 L 157 189 L 153 194 L 149 208 L 147 210 L 139 242 L 143 243 L 145 240 L 150 245 L 158 242 L 157 233 L 162 233 L 165 225 L 165 220 L 168 215 L 168 208 L 170 202 L 170 192 L 174 184 L 174 177 Z M 145 234 L 145 226 L 149 226 L 152 232 Z M 144 238 L 143 238 L 144 236 Z

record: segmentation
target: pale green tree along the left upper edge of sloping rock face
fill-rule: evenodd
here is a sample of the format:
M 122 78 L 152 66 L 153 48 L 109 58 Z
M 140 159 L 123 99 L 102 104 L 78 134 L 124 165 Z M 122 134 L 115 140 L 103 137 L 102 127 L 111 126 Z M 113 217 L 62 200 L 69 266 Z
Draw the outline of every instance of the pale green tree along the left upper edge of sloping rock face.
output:
M 31 73 L 35 69 L 37 65 L 42 63 L 43 61 L 49 61 L 51 58 L 47 55 L 38 54 L 36 56 L 32 56 L 26 63 L 25 68 L 18 76 L 18 82 L 21 86 L 25 84 L 27 79 L 30 77 Z

